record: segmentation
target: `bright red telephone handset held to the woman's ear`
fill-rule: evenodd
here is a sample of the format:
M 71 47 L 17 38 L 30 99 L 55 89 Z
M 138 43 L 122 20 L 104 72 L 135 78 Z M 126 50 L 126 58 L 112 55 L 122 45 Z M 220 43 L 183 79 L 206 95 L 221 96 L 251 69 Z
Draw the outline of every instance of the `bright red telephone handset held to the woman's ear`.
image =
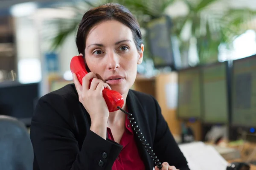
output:
M 85 63 L 82 56 L 74 56 L 71 59 L 70 62 L 70 70 L 72 73 L 75 73 L 79 82 L 82 84 L 83 77 L 88 73 L 85 69 Z M 90 80 L 91 83 L 92 80 Z M 124 105 L 124 99 L 122 98 L 122 95 L 113 90 L 109 90 L 107 88 L 104 88 L 102 91 L 103 97 L 107 103 L 109 112 L 117 111 L 119 110 L 117 107 L 120 108 Z

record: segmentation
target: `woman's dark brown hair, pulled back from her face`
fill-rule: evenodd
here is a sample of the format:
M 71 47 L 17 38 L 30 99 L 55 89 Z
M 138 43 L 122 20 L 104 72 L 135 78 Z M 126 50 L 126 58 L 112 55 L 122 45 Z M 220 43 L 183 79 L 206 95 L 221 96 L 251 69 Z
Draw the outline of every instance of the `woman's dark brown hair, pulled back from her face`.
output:
M 85 55 L 85 39 L 90 28 L 96 23 L 106 20 L 116 20 L 130 28 L 136 48 L 138 51 L 141 50 L 140 45 L 142 44 L 142 36 L 140 26 L 136 18 L 131 14 L 131 11 L 118 3 L 107 3 L 87 11 L 79 23 L 76 34 L 76 46 L 79 54 L 81 53 L 83 56 Z

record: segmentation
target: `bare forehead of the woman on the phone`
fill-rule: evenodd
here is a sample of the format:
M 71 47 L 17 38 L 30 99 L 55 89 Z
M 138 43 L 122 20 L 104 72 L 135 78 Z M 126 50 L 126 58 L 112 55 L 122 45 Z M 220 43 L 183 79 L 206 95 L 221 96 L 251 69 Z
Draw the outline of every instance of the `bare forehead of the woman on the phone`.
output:
M 98 23 L 90 29 L 87 34 L 86 45 L 88 43 L 116 42 L 125 39 L 133 41 L 131 29 L 119 21 L 108 20 Z

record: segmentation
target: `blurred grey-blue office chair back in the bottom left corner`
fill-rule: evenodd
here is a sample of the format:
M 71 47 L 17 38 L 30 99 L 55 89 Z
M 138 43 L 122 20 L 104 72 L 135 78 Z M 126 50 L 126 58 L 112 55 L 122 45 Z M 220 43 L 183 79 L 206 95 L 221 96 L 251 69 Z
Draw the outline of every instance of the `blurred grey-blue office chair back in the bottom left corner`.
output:
M 0 115 L 0 170 L 32 170 L 34 153 L 25 125 Z

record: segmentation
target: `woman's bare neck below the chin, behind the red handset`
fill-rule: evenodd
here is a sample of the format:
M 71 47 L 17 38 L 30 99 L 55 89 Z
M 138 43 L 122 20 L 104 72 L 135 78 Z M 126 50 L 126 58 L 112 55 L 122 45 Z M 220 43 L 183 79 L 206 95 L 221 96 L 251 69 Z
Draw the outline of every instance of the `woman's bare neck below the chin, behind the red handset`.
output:
M 122 107 L 123 110 L 126 110 L 127 95 L 128 95 L 128 92 L 122 95 L 122 97 L 124 99 L 124 105 Z M 122 123 L 122 121 L 120 121 L 120 120 L 124 120 L 125 116 L 126 116 L 126 114 L 123 113 L 120 110 L 109 113 L 108 125 L 114 125 L 114 124 Z

